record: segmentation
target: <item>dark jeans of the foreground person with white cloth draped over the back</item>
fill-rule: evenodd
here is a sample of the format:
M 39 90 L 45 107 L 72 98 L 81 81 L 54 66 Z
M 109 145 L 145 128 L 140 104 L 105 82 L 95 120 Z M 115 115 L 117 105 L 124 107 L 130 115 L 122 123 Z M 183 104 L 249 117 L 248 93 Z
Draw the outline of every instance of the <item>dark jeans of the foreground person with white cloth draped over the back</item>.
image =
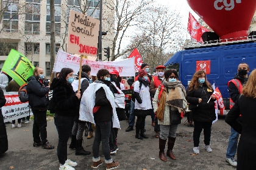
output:
M 95 137 L 93 141 L 93 157 L 99 158 L 99 144 L 102 141 L 102 152 L 105 160 L 111 160 L 109 137 L 111 131 L 111 121 L 103 121 L 96 123 Z

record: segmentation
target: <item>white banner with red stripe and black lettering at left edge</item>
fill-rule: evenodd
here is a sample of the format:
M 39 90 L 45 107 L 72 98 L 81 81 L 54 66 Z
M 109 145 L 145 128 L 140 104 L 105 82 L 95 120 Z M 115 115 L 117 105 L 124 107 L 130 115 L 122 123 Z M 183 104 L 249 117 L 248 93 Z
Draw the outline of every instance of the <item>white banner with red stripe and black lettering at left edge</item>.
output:
M 4 122 L 33 115 L 31 109 L 29 113 L 29 102 L 21 103 L 18 92 L 5 92 L 4 96 L 6 99 L 5 105 L 2 107 Z

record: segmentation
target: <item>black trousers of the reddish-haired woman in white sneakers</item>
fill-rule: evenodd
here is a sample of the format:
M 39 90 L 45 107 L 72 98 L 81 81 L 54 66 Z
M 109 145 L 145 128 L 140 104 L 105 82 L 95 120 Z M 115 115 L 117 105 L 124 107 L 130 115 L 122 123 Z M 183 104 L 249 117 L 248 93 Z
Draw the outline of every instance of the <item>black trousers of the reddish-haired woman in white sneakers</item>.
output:
M 210 144 L 211 128 L 212 128 L 212 122 L 201 122 L 201 121 L 194 120 L 194 132 L 193 132 L 194 147 L 199 146 L 202 129 L 204 129 L 204 144 L 205 145 Z

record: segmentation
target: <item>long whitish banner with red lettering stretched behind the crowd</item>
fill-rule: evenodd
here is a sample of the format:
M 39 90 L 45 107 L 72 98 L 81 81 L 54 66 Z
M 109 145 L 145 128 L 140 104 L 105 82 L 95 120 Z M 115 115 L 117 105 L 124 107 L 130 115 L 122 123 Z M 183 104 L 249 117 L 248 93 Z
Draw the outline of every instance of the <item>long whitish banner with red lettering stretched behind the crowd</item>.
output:
M 68 67 L 79 72 L 80 57 L 59 50 L 52 72 L 60 72 L 62 68 Z M 91 61 L 83 59 L 82 65 L 88 64 L 91 67 L 91 75 L 96 76 L 99 69 L 107 69 L 109 72 L 117 70 L 121 77 L 135 76 L 134 58 L 123 61 Z

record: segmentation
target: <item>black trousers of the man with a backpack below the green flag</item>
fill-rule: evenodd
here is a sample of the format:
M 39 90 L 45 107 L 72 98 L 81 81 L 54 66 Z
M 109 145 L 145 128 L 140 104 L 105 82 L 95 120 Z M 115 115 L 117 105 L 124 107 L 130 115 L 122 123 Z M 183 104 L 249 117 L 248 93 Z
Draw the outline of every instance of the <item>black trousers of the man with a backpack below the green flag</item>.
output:
M 46 110 L 34 110 L 32 109 L 34 114 L 34 124 L 33 124 L 33 138 L 35 143 L 46 143 L 48 141 L 47 138 L 47 121 L 46 121 Z M 40 140 L 41 137 L 41 140 Z

